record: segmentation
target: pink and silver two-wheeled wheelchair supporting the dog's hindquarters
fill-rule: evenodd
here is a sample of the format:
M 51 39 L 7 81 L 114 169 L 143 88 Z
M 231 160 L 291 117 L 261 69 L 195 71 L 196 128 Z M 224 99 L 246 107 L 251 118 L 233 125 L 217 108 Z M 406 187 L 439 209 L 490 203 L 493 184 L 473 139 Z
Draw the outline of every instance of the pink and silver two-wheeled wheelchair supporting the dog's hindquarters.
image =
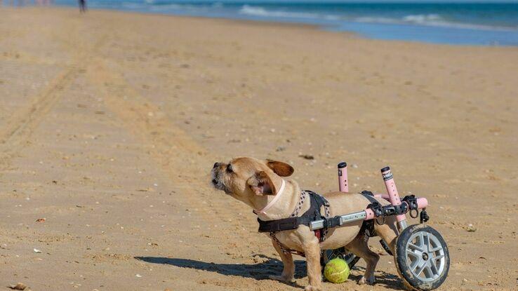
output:
M 381 169 L 381 175 L 385 182 L 387 194 L 372 194 L 370 191 L 362 191 L 362 194 L 384 198 L 390 202 L 390 205 L 382 206 L 380 203 L 374 202 L 368 205 L 365 210 L 359 212 L 310 222 L 310 229 L 314 231 L 338 227 L 361 220 L 366 221 L 366 224 L 383 224 L 385 217 L 395 215 L 399 235 L 394 248 L 396 252 L 394 254 L 394 261 L 405 287 L 411 290 L 436 289 L 446 280 L 450 258 L 448 247 L 441 234 L 425 224 L 430 219 L 426 212 L 428 201 L 426 198 L 416 198 L 413 195 L 400 198 L 390 168 L 385 167 Z M 340 183 L 340 191 L 348 192 L 347 163 L 345 162 L 338 164 L 338 182 Z M 406 223 L 407 212 L 409 212 L 412 218 L 419 217 L 420 223 L 408 226 Z M 373 231 L 370 234 L 368 232 L 366 234 L 368 236 L 375 235 Z M 383 240 L 380 243 L 385 251 L 392 255 L 387 243 Z M 345 259 L 350 268 L 359 260 L 359 257 L 352 254 L 352 252 L 347 251 L 345 248 L 339 248 L 322 251 L 321 264 L 325 265 L 335 257 Z

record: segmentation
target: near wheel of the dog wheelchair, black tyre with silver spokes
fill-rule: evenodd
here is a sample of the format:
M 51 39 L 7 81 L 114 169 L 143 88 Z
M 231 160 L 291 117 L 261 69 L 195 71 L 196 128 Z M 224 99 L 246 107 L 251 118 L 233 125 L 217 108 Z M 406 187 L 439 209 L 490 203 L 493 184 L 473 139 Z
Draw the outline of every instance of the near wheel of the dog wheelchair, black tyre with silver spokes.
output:
M 414 224 L 401 232 L 394 260 L 404 284 L 413 290 L 436 289 L 446 280 L 450 269 L 444 239 L 425 224 Z

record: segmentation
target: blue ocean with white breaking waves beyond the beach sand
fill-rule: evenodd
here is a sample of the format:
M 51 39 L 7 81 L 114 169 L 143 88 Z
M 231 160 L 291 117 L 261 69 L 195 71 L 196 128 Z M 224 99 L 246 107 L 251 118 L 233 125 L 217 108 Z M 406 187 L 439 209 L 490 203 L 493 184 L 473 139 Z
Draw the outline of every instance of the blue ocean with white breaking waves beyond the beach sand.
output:
M 89 8 L 318 25 L 374 39 L 518 46 L 518 2 L 87 0 Z M 75 0 L 55 0 L 77 5 Z

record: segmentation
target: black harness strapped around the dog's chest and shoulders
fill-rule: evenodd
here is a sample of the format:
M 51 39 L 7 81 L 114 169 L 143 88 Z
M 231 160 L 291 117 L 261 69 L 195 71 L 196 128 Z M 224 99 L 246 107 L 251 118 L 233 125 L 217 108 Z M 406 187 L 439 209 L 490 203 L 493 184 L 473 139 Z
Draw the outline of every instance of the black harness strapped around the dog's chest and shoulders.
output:
M 299 225 L 309 226 L 310 222 L 314 220 L 325 219 L 326 217 L 324 215 L 321 215 L 320 209 L 322 206 L 329 206 L 329 203 L 326 201 L 326 198 L 314 193 L 313 191 L 306 190 L 305 192 L 307 194 L 310 194 L 310 209 L 304 212 L 304 214 L 300 217 L 288 217 L 283 219 L 267 221 L 258 218 L 257 221 L 259 222 L 259 232 L 274 233 L 277 231 L 298 229 Z M 320 239 L 321 238 L 322 236 L 320 236 Z

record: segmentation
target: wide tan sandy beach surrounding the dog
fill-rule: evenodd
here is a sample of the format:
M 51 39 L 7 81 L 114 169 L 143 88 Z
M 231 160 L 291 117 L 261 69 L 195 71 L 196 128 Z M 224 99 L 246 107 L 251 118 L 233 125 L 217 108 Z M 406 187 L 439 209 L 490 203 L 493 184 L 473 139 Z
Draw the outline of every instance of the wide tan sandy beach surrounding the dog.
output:
M 302 290 L 303 258 L 295 284 L 268 280 L 281 264 L 251 209 L 210 186 L 215 161 L 254 156 L 320 193 L 338 161 L 352 191 L 384 191 L 391 165 L 449 245 L 442 290 L 516 290 L 517 60 L 303 25 L 0 8 L 0 289 Z M 324 290 L 401 288 L 390 256 L 375 286 L 355 283 L 364 266 Z

